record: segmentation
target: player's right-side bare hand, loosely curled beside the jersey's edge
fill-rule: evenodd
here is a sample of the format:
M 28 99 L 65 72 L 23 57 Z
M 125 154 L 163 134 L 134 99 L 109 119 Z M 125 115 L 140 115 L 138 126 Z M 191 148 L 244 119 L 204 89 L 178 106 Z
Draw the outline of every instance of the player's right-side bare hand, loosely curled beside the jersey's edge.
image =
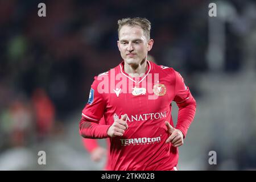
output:
M 167 126 L 168 133 L 171 135 L 170 137 L 167 138 L 166 143 L 171 142 L 172 146 L 174 147 L 182 146 L 183 137 L 184 137 L 183 133 L 180 130 L 172 127 L 170 123 L 167 121 L 166 121 L 166 126 Z

